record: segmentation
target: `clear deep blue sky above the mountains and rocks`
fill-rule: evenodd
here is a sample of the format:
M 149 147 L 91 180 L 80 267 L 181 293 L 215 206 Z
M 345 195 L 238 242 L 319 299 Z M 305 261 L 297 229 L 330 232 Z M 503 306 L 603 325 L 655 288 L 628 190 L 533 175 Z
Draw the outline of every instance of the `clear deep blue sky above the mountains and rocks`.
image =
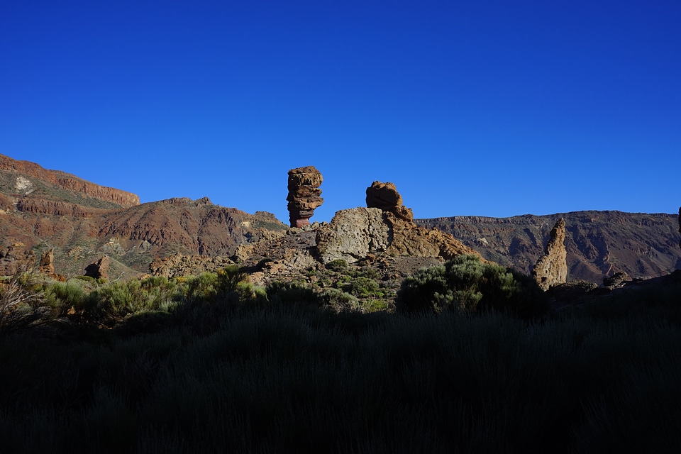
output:
M 394 182 L 417 218 L 681 205 L 681 2 L 0 4 L 0 153 L 313 221 Z

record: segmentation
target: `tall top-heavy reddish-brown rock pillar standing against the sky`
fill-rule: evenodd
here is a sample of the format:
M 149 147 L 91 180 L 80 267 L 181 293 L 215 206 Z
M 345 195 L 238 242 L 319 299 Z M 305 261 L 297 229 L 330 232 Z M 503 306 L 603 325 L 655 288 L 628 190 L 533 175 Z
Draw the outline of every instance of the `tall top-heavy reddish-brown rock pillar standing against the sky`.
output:
M 323 178 L 314 166 L 298 167 L 289 170 L 289 220 L 292 227 L 309 225 L 314 210 L 319 208 L 324 199 L 321 198 Z

